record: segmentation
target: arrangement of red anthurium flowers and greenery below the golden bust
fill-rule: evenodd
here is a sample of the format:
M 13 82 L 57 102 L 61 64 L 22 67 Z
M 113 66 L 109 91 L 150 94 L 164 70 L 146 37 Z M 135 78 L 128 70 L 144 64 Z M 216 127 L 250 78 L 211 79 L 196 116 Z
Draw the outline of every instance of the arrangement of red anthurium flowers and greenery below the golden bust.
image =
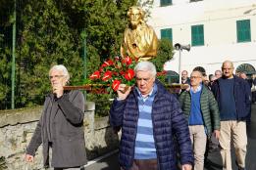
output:
M 100 68 L 89 76 L 89 79 L 97 84 L 106 85 L 108 92 L 117 91 L 120 84 L 132 86 L 135 82 L 133 67 L 136 62 L 129 57 L 110 59 L 101 64 Z

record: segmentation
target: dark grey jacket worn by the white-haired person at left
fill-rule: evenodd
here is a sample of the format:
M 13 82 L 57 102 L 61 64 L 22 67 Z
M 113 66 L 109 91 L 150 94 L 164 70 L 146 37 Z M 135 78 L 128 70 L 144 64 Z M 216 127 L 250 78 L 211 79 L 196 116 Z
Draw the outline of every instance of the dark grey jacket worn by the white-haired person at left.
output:
M 49 165 L 49 140 L 47 114 L 52 111 L 52 166 L 76 167 L 86 164 L 83 133 L 84 98 L 79 91 L 65 93 L 60 99 L 53 94 L 46 97 L 43 112 L 37 123 L 26 153 L 34 155 L 42 144 L 44 166 Z

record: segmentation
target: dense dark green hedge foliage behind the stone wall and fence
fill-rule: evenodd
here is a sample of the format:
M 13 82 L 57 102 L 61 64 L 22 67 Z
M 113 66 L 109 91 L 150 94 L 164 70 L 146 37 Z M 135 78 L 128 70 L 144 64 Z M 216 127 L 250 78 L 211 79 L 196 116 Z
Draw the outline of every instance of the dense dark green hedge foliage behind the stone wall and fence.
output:
M 0 1 L 0 34 L 11 35 L 13 0 Z M 87 74 L 120 53 L 127 10 L 136 0 L 18 0 L 16 106 L 42 105 L 50 91 L 48 70 L 65 64 L 72 84 L 82 82 L 82 30 L 86 32 Z M 3 28 L 3 29 L 2 29 Z M 4 38 L 1 38 L 5 41 Z M 0 42 L 1 44 L 1 42 Z M 0 108 L 10 95 L 10 48 L 0 46 Z M 5 106 L 3 106 L 3 104 Z

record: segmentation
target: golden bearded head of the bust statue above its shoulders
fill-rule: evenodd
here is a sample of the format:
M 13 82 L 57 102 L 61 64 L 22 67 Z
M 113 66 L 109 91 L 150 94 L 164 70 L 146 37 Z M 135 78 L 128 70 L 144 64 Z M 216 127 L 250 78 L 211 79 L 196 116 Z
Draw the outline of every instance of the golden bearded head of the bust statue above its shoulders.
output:
M 137 26 L 144 20 L 145 12 L 142 8 L 137 6 L 132 6 L 128 8 L 128 19 L 131 26 Z

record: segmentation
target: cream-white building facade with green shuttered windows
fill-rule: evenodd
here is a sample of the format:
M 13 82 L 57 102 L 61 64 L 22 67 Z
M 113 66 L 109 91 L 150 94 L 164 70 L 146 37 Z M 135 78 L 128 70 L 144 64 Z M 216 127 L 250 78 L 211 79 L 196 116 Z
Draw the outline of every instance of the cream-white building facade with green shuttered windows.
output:
M 255 72 L 256 0 L 155 0 L 150 15 L 159 38 L 191 47 L 175 50 L 164 69 L 190 74 L 200 65 L 211 74 L 230 60 L 236 71 Z

